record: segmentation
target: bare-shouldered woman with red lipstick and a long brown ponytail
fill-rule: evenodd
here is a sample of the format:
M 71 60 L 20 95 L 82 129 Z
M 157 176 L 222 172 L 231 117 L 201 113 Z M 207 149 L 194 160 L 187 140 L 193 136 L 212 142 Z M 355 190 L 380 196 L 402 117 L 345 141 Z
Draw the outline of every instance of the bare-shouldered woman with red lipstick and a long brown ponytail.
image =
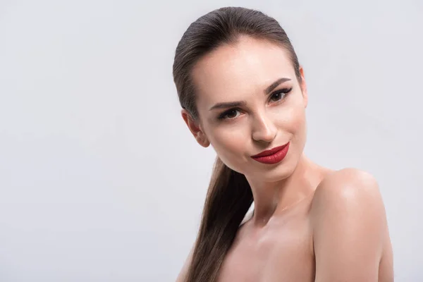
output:
M 177 281 L 393 281 L 374 177 L 303 153 L 304 71 L 274 18 L 235 7 L 207 13 L 180 39 L 173 78 L 183 120 L 217 154 Z

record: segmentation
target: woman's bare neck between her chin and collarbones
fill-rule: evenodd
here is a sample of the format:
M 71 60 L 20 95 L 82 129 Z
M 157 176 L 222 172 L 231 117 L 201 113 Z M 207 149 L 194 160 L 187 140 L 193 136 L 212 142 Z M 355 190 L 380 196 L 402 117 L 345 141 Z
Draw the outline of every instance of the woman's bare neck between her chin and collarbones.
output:
M 246 176 L 254 197 L 252 222 L 255 226 L 266 225 L 275 212 L 289 209 L 312 195 L 323 170 L 302 154 L 293 173 L 282 180 L 266 183 Z

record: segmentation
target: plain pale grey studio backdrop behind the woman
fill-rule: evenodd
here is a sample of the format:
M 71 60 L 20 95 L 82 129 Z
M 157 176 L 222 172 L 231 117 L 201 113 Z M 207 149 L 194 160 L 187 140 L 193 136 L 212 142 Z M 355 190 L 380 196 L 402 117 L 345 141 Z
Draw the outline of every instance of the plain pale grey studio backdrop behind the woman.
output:
M 423 3 L 1 1 L 0 281 L 174 281 L 215 153 L 173 84 L 192 21 L 245 6 L 305 67 L 306 154 L 379 181 L 396 281 L 423 281 Z

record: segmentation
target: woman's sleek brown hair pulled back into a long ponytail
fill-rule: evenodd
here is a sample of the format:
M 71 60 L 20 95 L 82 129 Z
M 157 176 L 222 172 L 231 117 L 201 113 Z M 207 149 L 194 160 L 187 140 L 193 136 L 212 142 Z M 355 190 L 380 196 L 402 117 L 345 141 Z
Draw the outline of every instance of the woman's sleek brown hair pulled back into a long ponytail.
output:
M 173 81 L 180 105 L 195 121 L 199 120 L 199 115 L 191 76 L 193 66 L 219 46 L 236 44 L 241 35 L 265 39 L 285 48 L 295 75 L 301 81 L 297 55 L 286 32 L 274 18 L 261 11 L 242 7 L 216 9 L 191 23 L 176 47 L 173 62 Z M 228 168 L 217 157 L 186 282 L 216 281 L 223 258 L 252 200 L 250 184 L 245 176 Z

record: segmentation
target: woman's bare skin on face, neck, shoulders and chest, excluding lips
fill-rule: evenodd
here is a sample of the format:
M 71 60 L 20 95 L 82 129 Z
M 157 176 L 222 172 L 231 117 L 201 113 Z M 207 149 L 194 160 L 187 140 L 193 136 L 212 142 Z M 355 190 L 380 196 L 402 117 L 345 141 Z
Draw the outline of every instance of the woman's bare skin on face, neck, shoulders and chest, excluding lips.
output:
M 183 109 L 183 120 L 200 145 L 212 145 L 223 163 L 245 175 L 255 201 L 219 282 L 391 282 L 391 240 L 374 177 L 324 168 L 303 152 L 308 94 L 300 73 L 298 82 L 283 47 L 247 36 L 207 54 L 192 71 L 200 119 Z M 227 102 L 240 103 L 221 105 Z M 250 157 L 286 142 L 288 154 L 278 164 Z M 191 256 L 192 250 L 178 282 Z

